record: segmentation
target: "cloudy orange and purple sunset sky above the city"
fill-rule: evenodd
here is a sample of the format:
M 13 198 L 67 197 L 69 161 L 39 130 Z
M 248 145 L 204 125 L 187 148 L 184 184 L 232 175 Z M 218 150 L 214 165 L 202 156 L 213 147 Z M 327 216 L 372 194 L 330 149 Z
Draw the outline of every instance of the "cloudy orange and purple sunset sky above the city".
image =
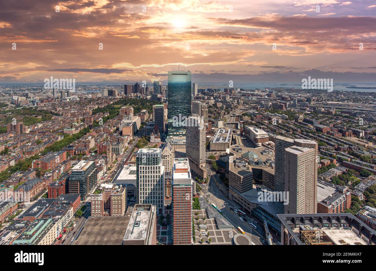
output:
M 165 81 L 173 69 L 190 70 L 199 83 L 376 82 L 374 0 L 0 0 L 0 7 L 0 83 Z

